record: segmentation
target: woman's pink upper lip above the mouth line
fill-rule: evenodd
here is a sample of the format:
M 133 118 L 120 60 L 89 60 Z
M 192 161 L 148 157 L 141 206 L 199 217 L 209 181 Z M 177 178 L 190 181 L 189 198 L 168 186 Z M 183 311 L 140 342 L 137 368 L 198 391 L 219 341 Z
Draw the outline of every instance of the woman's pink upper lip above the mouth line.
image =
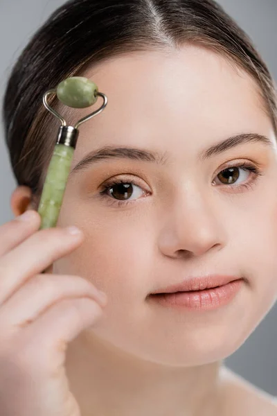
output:
M 241 277 L 231 275 L 207 275 L 204 277 L 192 277 L 185 279 L 179 284 L 167 286 L 159 289 L 159 291 L 152 293 L 157 295 L 161 293 L 176 293 L 176 292 L 190 292 L 190 291 L 204 291 L 208 288 L 216 288 L 217 286 L 224 286 L 231 281 L 239 280 Z

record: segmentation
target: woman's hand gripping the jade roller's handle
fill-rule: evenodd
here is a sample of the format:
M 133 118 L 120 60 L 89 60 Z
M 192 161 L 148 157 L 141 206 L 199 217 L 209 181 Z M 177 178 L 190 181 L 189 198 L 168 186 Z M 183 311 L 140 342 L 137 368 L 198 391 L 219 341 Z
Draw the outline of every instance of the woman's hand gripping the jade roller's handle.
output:
M 30 219 L 0 226 L 0 414 L 81 416 L 66 378 L 66 347 L 102 315 L 106 300 L 82 277 L 42 274 L 84 234 L 39 230 L 39 214 L 28 212 Z

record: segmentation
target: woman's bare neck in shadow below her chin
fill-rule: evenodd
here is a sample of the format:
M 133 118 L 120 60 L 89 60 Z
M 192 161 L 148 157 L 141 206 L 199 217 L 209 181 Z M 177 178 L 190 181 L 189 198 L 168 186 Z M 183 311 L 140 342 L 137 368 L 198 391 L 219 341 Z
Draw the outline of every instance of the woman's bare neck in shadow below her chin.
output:
M 85 331 L 66 354 L 66 374 L 82 416 L 222 415 L 220 367 L 220 362 L 168 367 L 142 361 Z

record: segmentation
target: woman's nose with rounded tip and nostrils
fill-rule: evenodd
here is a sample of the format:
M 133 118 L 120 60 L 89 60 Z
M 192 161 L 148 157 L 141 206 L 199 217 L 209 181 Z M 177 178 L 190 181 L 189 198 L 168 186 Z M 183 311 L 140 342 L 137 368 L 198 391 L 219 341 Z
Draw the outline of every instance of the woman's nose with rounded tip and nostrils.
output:
M 218 202 L 218 204 L 217 204 Z M 159 250 L 169 257 L 199 257 L 220 250 L 226 239 L 220 201 L 211 193 L 186 189 L 174 199 L 159 234 Z

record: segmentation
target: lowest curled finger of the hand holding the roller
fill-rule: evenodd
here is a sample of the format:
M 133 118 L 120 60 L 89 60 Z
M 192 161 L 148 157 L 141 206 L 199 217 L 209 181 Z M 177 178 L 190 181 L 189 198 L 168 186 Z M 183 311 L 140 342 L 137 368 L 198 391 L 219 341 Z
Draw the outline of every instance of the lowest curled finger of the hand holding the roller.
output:
M 64 363 L 67 345 L 84 329 L 93 327 L 102 312 L 89 297 L 61 300 L 22 331 L 20 354 L 36 374 L 39 369 L 56 371 Z

